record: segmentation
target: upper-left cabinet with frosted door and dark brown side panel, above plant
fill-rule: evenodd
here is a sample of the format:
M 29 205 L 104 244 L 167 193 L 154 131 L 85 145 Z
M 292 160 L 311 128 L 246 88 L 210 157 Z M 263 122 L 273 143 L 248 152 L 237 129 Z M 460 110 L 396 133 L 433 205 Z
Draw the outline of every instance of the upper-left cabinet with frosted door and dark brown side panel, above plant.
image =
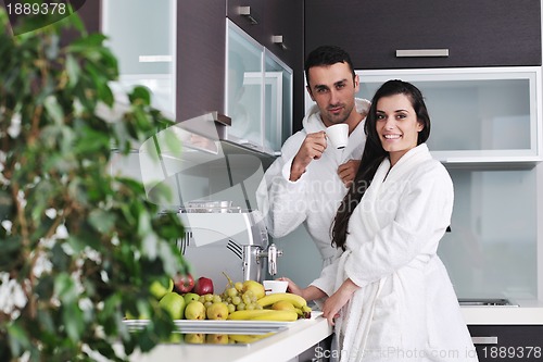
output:
M 176 121 L 224 113 L 225 7 L 226 0 L 103 0 L 102 32 L 119 61 L 114 86 L 147 86 L 152 104 Z

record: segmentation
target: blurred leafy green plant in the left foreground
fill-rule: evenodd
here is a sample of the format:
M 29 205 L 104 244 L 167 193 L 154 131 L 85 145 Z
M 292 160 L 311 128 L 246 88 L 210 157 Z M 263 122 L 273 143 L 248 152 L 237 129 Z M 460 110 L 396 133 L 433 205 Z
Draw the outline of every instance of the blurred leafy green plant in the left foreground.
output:
M 80 38 L 60 46 L 74 25 Z M 149 286 L 188 272 L 182 225 L 108 171 L 112 147 L 128 152 L 171 121 L 139 87 L 117 122 L 99 115 L 118 74 L 103 41 L 74 15 L 12 36 L 0 8 L 1 361 L 124 361 L 174 326 Z M 125 313 L 151 323 L 129 333 Z

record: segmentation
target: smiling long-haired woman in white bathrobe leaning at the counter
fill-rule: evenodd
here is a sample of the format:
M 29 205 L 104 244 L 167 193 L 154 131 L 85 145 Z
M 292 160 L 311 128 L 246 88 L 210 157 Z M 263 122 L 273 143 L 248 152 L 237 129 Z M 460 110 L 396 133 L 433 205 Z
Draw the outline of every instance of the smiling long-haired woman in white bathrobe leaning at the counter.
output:
M 425 141 L 430 117 L 412 84 L 389 80 L 365 124 L 361 167 L 332 225 L 339 255 L 305 289 L 329 296 L 341 361 L 477 361 L 438 244 L 451 222 L 453 184 Z

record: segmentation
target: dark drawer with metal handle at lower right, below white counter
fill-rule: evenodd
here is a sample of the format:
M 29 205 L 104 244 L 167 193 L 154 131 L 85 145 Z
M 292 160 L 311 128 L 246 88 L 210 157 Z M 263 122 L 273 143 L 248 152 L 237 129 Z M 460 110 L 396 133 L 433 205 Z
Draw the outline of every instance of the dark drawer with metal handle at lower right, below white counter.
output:
M 543 361 L 543 325 L 469 325 L 480 362 Z

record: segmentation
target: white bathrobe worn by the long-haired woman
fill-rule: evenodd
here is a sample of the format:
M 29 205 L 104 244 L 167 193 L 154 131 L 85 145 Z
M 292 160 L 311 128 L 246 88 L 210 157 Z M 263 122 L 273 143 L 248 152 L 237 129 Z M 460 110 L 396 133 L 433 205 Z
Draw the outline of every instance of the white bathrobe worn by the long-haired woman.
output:
M 389 172 L 390 170 L 390 172 Z M 477 361 L 437 255 L 451 222 L 453 184 L 422 143 L 386 159 L 349 222 L 346 250 L 313 285 L 329 296 L 361 287 L 336 324 L 341 361 Z

